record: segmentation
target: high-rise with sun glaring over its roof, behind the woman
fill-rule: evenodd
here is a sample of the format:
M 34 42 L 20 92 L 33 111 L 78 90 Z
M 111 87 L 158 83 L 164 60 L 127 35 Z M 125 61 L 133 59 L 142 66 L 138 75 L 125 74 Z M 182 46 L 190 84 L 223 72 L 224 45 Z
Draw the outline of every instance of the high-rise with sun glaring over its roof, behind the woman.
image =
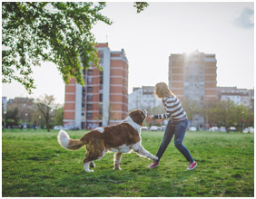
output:
M 171 54 L 169 57 L 169 87 L 180 100 L 204 102 L 214 100 L 217 60 L 215 54 L 194 51 Z

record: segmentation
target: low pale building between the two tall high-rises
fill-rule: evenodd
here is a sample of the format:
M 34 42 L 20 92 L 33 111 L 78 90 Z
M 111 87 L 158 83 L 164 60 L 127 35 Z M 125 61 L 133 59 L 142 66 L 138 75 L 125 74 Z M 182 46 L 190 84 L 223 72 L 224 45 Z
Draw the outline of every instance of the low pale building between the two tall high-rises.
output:
M 154 96 L 153 86 L 143 86 L 142 88 L 133 88 L 133 92 L 129 94 L 128 109 L 153 109 L 162 104 L 162 101 Z

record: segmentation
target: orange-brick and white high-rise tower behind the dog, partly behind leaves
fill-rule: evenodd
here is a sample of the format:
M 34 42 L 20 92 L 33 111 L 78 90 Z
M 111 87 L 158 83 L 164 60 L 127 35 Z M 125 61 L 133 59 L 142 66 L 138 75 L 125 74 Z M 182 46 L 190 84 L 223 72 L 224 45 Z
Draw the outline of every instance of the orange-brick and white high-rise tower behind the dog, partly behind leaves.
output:
M 96 45 L 100 65 L 84 71 L 82 87 L 70 80 L 65 86 L 64 125 L 96 128 L 119 123 L 128 113 L 128 60 L 123 49 L 111 51 L 108 43 Z

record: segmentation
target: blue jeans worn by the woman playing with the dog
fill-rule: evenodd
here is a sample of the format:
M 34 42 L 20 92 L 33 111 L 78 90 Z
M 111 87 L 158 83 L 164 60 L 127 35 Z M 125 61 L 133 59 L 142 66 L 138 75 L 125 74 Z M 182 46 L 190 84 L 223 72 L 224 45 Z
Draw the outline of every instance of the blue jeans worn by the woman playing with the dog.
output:
M 164 136 L 162 138 L 161 146 L 158 149 L 156 156 L 158 156 L 159 162 L 165 149 L 168 147 L 169 143 L 172 140 L 174 135 L 174 145 L 175 147 L 182 153 L 183 156 L 186 157 L 188 162 L 193 162 L 193 158 L 189 152 L 189 150 L 182 145 L 183 138 L 185 136 L 186 130 L 188 127 L 188 119 L 184 118 L 181 121 L 175 121 L 169 119 L 167 127 L 164 132 Z

